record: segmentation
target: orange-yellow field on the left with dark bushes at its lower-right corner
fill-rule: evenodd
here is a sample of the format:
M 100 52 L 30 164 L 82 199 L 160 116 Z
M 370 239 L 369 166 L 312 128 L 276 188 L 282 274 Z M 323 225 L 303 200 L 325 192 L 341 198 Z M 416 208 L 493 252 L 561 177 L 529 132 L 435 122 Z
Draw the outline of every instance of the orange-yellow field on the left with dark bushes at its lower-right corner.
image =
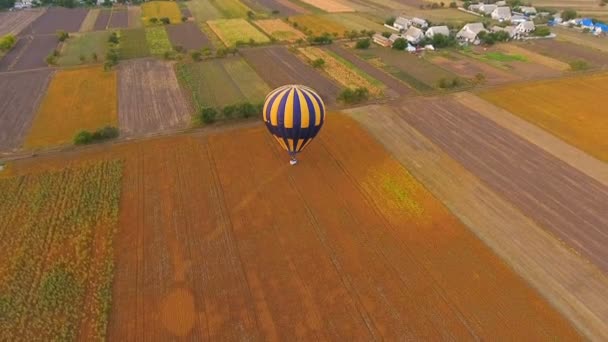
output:
M 90 67 L 59 71 L 25 139 L 26 148 L 71 143 L 81 130 L 117 126 L 116 72 Z

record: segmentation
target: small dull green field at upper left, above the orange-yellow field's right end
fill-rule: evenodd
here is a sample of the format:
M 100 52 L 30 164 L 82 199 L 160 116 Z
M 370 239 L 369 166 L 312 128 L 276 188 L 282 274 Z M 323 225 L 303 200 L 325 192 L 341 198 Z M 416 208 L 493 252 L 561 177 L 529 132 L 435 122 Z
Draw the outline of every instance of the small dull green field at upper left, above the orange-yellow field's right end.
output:
M 108 37 L 110 31 L 88 32 L 71 37 L 61 50 L 57 63 L 69 66 L 103 61 L 108 50 Z M 97 55 L 97 60 L 93 58 L 93 54 Z M 81 60 L 81 56 L 84 60 Z

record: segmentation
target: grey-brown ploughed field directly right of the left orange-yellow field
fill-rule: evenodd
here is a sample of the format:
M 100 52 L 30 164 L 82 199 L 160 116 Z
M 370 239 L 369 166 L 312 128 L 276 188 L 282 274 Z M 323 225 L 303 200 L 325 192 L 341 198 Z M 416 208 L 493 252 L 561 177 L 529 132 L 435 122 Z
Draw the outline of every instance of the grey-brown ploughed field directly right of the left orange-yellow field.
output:
M 118 68 L 118 122 L 121 134 L 183 128 L 191 109 L 181 92 L 173 64 L 132 60 Z

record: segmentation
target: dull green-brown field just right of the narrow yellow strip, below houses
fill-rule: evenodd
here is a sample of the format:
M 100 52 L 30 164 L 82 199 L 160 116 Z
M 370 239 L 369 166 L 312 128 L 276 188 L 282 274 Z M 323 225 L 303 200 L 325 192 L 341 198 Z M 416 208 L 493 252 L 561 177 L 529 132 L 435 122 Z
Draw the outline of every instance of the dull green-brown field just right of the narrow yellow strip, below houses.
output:
M 373 46 L 367 50 L 355 50 L 363 59 L 369 60 L 412 88 L 432 91 L 441 79 L 452 80 L 457 76 L 439 68 L 418 56 L 393 49 Z

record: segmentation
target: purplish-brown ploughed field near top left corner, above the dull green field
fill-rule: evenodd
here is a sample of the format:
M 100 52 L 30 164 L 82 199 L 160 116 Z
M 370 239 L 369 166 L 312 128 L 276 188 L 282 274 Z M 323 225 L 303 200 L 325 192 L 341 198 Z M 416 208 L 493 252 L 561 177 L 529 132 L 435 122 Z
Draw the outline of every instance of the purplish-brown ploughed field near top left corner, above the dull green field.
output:
M 57 31 L 78 32 L 89 12 L 86 8 L 49 7 L 23 34 L 56 34 Z

